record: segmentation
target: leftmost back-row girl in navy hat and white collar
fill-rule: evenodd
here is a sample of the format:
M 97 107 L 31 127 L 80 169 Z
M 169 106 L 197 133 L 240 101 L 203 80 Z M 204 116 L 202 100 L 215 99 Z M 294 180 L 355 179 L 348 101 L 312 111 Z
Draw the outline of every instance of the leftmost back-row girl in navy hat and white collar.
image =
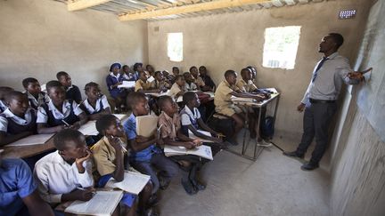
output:
M 127 92 L 123 88 L 118 88 L 119 84 L 123 82 L 123 76 L 120 76 L 119 69 L 121 65 L 119 63 L 113 63 L 110 67 L 110 74 L 106 77 L 107 88 L 111 97 L 115 100 L 115 108 L 120 113 L 122 105 L 126 104 Z

